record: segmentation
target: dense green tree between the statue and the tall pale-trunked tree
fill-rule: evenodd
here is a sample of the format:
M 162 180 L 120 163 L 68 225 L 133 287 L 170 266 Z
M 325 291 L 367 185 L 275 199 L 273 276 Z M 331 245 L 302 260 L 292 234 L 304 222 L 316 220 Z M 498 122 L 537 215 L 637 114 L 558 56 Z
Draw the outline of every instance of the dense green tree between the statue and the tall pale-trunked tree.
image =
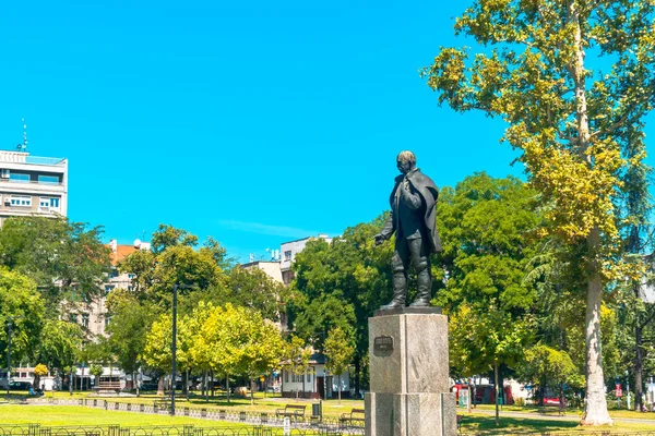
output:
M 443 252 L 438 258 L 448 279 L 436 299 L 451 317 L 455 375 L 492 368 L 500 387 L 501 371 L 514 365 L 533 339 L 527 327 L 534 323 L 537 293 L 524 278 L 539 225 L 535 197 L 517 179 L 485 173 L 441 191 L 437 222 Z

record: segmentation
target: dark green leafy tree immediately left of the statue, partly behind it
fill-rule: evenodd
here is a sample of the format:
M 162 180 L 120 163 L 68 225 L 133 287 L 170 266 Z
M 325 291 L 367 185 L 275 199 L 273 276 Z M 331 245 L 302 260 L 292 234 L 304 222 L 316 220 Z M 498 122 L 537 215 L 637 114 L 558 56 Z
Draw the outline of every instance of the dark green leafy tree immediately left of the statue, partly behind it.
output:
M 286 311 L 289 325 L 317 350 L 322 350 L 332 327 L 353 329 L 358 391 L 361 382 L 367 383 L 360 378 L 366 374 L 368 318 L 391 299 L 393 242 L 376 249 L 373 239 L 384 219 L 348 228 L 330 244 L 321 239 L 309 241 L 293 265 L 296 278 Z

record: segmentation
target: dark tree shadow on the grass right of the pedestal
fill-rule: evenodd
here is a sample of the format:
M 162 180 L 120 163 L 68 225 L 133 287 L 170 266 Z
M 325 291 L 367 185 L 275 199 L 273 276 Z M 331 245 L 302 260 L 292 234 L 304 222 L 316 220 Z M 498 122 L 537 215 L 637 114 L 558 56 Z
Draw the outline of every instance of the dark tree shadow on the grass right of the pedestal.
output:
M 493 416 L 464 415 L 462 434 L 510 435 L 512 433 L 549 433 L 579 429 L 576 421 L 535 420 L 531 417 L 502 416 L 496 426 Z

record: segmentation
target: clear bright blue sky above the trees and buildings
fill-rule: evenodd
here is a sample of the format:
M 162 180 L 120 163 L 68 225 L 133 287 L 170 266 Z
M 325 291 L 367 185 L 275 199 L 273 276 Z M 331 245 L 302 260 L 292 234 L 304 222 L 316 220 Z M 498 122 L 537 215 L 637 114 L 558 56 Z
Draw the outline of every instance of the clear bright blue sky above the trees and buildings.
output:
M 503 124 L 418 76 L 467 2 L 26 0 L 0 9 L 0 147 L 69 159 L 69 216 L 158 223 L 247 259 L 388 208 L 395 156 L 438 185 L 520 175 Z

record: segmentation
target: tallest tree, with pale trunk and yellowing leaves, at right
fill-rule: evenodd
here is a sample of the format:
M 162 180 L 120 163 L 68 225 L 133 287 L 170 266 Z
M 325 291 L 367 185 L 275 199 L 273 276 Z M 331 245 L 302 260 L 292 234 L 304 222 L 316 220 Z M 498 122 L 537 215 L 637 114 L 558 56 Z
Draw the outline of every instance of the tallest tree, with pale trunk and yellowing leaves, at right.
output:
M 622 275 L 617 211 L 630 131 L 643 130 L 655 92 L 650 1 L 475 0 L 456 34 L 480 48 L 442 48 L 426 69 L 439 102 L 510 124 L 541 194 L 549 232 L 584 246 L 586 401 L 583 424 L 611 423 L 600 350 L 604 283 Z M 633 159 L 643 159 L 643 155 Z

